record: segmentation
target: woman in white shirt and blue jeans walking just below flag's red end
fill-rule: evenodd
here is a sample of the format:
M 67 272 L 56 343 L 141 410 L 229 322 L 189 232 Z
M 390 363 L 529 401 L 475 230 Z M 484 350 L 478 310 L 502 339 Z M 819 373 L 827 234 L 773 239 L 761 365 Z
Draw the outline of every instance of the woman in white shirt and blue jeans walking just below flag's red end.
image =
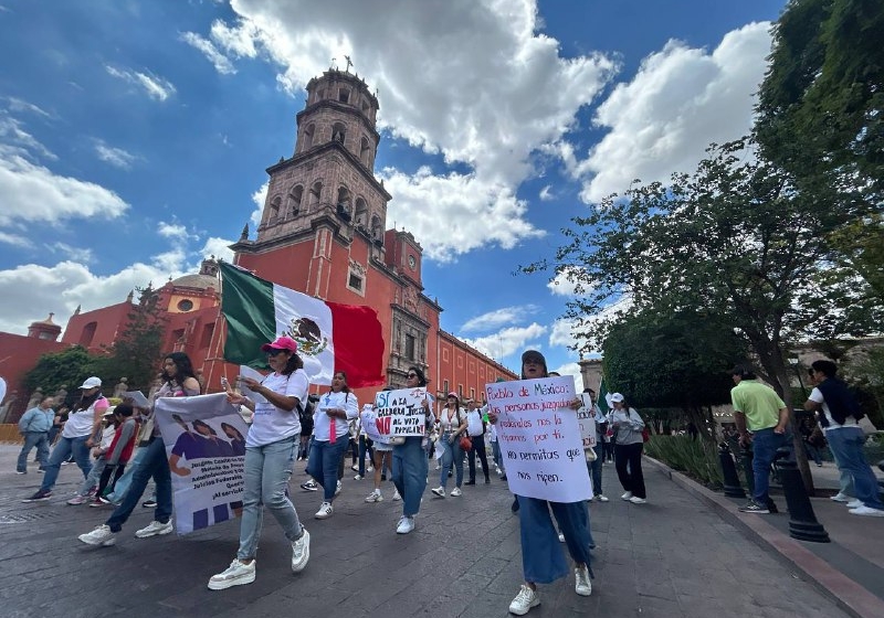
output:
M 317 520 L 330 518 L 338 486 L 338 466 L 349 446 L 350 420 L 359 415 L 359 403 L 347 386 L 347 374 L 335 372 L 332 390 L 319 397 L 313 414 L 313 446 L 307 457 L 307 473 L 323 488 Z

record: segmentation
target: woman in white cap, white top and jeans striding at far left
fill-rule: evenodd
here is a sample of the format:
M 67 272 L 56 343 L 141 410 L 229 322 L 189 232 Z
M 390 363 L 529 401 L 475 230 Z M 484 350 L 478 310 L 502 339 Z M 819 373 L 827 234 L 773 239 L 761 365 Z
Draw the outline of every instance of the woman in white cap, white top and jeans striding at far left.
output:
M 45 466 L 46 473 L 40 489 L 23 502 L 42 502 L 52 497 L 52 488 L 59 478 L 59 470 L 62 461 L 66 461 L 71 454 L 80 469 L 83 470 L 83 478 L 90 476 L 92 462 L 90 461 L 90 449 L 101 439 L 102 417 L 110 404 L 102 395 L 102 380 L 96 376 L 87 377 L 80 386 L 82 395 L 80 401 L 71 408 L 67 423 L 64 424 L 62 437 L 52 449 L 49 462 Z

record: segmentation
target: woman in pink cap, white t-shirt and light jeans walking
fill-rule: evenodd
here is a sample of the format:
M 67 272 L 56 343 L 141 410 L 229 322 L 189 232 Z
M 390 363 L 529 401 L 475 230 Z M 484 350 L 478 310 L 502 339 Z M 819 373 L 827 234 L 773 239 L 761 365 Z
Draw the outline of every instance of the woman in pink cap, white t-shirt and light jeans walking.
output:
M 304 362 L 297 355 L 294 339 L 280 337 L 261 349 L 266 352 L 267 364 L 273 373 L 261 382 L 245 376 L 242 382 L 264 401 L 253 402 L 239 393 L 228 392 L 230 403 L 244 405 L 254 415 L 245 437 L 240 550 L 227 571 L 209 579 L 211 590 L 223 590 L 255 580 L 255 554 L 261 540 L 263 507 L 270 509 L 292 543 L 292 571 L 303 571 L 309 560 L 311 535 L 301 524 L 286 491 L 301 435 L 298 408 L 304 405 L 302 402 L 307 401 L 309 381 L 304 372 Z

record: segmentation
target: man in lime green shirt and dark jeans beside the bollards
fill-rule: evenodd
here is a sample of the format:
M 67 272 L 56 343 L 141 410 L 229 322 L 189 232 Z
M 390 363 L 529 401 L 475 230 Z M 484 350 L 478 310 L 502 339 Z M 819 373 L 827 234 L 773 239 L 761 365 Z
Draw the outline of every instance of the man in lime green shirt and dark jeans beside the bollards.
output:
M 740 446 L 753 445 L 753 476 L 755 493 L 739 511 L 767 514 L 770 512 L 770 465 L 777 449 L 786 444 L 786 427 L 789 411 L 779 395 L 758 376 L 743 365 L 730 371 L 734 387 L 730 402 L 734 405 L 734 423 L 739 433 Z

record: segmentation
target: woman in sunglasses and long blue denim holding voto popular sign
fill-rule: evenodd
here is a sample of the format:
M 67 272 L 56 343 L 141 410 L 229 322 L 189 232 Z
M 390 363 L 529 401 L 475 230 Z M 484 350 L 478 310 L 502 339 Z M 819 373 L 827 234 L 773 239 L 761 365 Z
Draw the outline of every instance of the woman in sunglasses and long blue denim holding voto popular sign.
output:
M 406 375 L 406 387 L 427 387 L 423 370 L 410 366 Z M 408 534 L 414 530 L 414 515 L 421 510 L 421 498 L 427 489 L 429 461 L 428 447 L 432 444 L 428 434 L 433 426 L 433 413 L 430 404 L 433 396 L 427 393 L 423 401 L 424 435 L 407 436 L 402 444 L 393 446 L 392 481 L 399 496 L 402 497 L 402 516 L 396 526 L 397 534 Z

